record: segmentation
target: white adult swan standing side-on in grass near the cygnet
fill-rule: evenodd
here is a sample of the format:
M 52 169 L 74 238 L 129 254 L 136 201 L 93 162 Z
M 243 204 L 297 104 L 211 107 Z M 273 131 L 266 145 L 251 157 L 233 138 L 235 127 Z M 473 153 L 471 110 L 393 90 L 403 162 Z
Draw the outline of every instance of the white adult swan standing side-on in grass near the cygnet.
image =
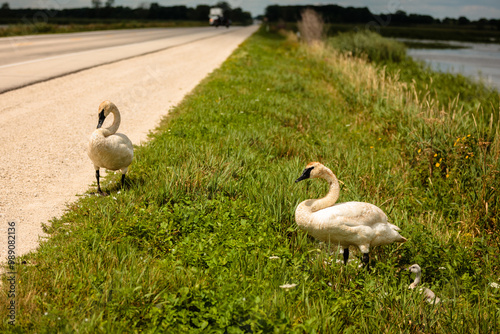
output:
M 340 187 L 337 177 L 319 162 L 311 162 L 295 180 L 325 179 L 330 189 L 320 199 L 308 199 L 297 206 L 297 225 L 314 238 L 344 248 L 344 264 L 349 258 L 349 246 L 357 246 L 363 253 L 363 263 L 368 267 L 370 247 L 405 242 L 397 231 L 399 227 L 387 221 L 385 213 L 370 203 L 346 202 L 335 204 Z

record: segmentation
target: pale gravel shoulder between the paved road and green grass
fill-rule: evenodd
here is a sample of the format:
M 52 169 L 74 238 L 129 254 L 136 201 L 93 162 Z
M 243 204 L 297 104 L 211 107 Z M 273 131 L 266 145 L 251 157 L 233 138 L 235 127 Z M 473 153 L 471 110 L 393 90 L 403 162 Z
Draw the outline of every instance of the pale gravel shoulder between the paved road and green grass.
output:
M 256 29 L 234 29 L 1 94 L 0 261 L 7 255 L 8 222 L 16 223 L 16 255 L 33 251 L 45 237 L 42 223 L 62 215 L 95 181 L 86 147 L 100 102 L 118 106 L 118 131 L 138 145 Z

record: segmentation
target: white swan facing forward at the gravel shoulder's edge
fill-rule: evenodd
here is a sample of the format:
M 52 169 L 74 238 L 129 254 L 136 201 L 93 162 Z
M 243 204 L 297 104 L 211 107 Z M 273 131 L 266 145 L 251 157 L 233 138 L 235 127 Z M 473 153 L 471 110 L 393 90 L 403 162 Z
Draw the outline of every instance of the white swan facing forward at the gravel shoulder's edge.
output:
M 101 128 L 104 119 L 113 114 L 113 124 L 109 128 Z M 122 133 L 116 133 L 120 126 L 120 112 L 114 103 L 104 101 L 99 105 L 99 121 L 97 129 L 90 136 L 87 154 L 94 163 L 97 190 L 103 194 L 99 184 L 99 168 L 121 170 L 122 187 L 125 182 L 125 173 L 134 157 L 132 142 Z

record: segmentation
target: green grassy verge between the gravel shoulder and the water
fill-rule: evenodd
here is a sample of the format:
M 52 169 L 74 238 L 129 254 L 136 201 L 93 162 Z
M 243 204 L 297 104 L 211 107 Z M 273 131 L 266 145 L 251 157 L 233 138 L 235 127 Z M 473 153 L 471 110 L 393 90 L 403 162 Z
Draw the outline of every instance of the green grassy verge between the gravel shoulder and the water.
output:
M 124 190 L 110 176 L 51 222 L 3 332 L 499 331 L 498 94 L 292 36 L 252 36 L 136 148 Z M 408 242 L 370 272 L 336 263 L 294 222 L 326 191 L 294 183 L 310 161 Z M 413 263 L 442 304 L 407 289 Z

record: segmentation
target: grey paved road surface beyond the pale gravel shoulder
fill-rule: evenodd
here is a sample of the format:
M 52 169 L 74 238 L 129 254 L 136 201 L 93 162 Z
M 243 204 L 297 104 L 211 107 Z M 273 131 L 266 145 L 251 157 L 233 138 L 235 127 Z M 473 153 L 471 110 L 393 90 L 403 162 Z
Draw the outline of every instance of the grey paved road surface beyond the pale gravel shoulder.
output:
M 0 38 L 0 93 L 238 29 L 153 28 Z

